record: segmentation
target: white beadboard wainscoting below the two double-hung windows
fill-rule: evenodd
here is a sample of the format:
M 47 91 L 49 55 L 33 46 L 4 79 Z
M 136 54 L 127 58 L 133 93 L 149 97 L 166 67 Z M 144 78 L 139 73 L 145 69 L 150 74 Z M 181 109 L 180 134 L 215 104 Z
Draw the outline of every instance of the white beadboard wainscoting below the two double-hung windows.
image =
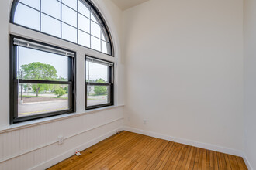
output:
M 123 126 L 123 107 L 0 131 L 0 169 L 43 169 L 108 138 Z M 64 136 L 58 145 L 57 137 Z

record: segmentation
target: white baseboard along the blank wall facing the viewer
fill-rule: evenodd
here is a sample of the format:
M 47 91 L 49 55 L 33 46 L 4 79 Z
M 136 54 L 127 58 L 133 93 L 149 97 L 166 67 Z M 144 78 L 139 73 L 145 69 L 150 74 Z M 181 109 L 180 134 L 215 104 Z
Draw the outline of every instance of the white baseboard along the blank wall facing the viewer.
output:
M 167 140 L 167 141 L 174 141 L 174 142 L 181 143 L 181 144 L 184 144 L 184 145 L 191 145 L 191 146 L 194 146 L 194 147 L 197 147 L 197 148 L 204 148 L 204 149 L 208 149 L 208 150 L 211 150 L 211 151 L 218 151 L 218 152 L 222 152 L 222 153 L 229 154 L 229 155 L 236 155 L 236 156 L 240 156 L 240 157 L 244 156 L 242 151 L 237 151 L 237 150 L 234 150 L 232 148 L 224 148 L 224 147 L 221 147 L 221 146 L 205 144 L 205 143 L 201 143 L 201 142 L 198 142 L 198 141 L 191 141 L 191 140 L 183 139 L 183 138 L 175 138 L 175 137 L 168 136 L 166 134 L 158 134 L 158 133 L 155 133 L 155 132 L 144 131 L 144 130 L 140 130 L 140 129 L 137 129 L 137 128 L 131 128 L 131 127 L 127 127 L 127 126 L 124 126 L 123 130 L 124 131 L 131 131 L 131 132 L 134 132 L 134 133 L 137 133 L 137 134 L 144 134 L 144 135 L 151 136 L 151 137 L 154 137 L 154 138 L 161 138 L 161 139 L 164 139 L 164 140 Z

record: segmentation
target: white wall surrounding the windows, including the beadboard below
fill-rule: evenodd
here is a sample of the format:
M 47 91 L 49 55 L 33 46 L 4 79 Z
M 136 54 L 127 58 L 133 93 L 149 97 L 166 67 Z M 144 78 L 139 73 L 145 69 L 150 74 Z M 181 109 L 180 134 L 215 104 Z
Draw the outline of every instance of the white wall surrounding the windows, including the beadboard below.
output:
M 102 12 L 114 39 L 115 58 L 102 59 L 116 62 L 115 107 L 85 113 L 85 53 L 97 56 L 70 42 L 9 24 L 12 0 L 0 2 L 0 169 L 44 169 L 74 155 L 76 149 L 85 149 L 115 134 L 123 127 L 123 74 L 119 38 L 122 13 L 109 0 L 93 1 Z M 9 33 L 48 42 L 77 52 L 77 112 L 9 125 Z M 120 106 L 120 107 L 118 107 Z M 57 117 L 55 117 L 57 118 Z M 57 136 L 64 135 L 64 144 L 57 145 Z

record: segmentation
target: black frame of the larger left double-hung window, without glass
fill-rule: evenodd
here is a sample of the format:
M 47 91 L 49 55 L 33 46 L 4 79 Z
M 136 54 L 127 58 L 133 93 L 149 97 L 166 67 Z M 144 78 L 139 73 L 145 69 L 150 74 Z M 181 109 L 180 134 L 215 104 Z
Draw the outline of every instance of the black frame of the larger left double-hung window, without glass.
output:
M 53 47 L 55 49 L 65 50 L 74 53 L 74 57 L 68 59 L 68 81 L 52 81 L 52 80 L 22 80 L 17 79 L 17 46 L 14 45 L 14 38 L 33 42 L 43 46 Z M 32 116 L 18 117 L 18 98 L 19 83 L 47 83 L 47 84 L 65 84 L 69 88 L 69 107 L 68 110 L 59 110 L 45 114 L 35 114 Z M 37 42 L 32 39 L 22 38 L 20 36 L 10 35 L 10 124 L 16 124 L 23 121 L 32 121 L 44 117 L 52 117 L 60 114 L 71 114 L 76 111 L 76 53 L 74 51 L 52 46 L 47 43 Z

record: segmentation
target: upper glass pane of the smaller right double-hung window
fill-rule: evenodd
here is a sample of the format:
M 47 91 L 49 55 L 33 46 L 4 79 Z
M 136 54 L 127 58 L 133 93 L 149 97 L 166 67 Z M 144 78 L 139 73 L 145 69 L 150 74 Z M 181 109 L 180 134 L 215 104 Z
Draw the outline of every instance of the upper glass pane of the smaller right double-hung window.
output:
M 109 66 L 86 61 L 86 82 L 109 83 Z

